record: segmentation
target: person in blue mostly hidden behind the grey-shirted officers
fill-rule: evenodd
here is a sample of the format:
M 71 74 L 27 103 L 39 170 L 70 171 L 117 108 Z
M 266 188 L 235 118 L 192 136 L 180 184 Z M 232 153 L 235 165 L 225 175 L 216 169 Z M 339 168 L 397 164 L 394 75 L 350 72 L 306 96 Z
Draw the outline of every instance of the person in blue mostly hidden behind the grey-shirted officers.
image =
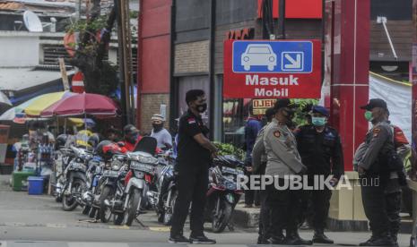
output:
M 246 144 L 246 160 L 245 165 L 247 166 L 246 174 L 252 174 L 252 149 L 256 142 L 257 133 L 262 129 L 262 123 L 253 116 L 252 104 L 248 107 L 248 120 L 245 124 L 245 144 Z M 259 193 L 247 190 L 245 191 L 245 208 L 252 208 L 255 202 L 255 206 L 259 207 L 260 199 Z

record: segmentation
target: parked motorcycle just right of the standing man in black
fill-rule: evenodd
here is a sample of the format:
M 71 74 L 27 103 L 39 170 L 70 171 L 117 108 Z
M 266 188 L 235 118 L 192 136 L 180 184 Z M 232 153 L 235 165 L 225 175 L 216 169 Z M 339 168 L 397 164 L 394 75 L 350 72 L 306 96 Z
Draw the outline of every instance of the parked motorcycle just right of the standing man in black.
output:
M 243 194 L 237 186 L 237 177 L 244 175 L 243 167 L 244 163 L 234 156 L 220 156 L 213 160 L 204 218 L 212 223 L 214 233 L 221 233 L 230 226 L 233 211 Z

